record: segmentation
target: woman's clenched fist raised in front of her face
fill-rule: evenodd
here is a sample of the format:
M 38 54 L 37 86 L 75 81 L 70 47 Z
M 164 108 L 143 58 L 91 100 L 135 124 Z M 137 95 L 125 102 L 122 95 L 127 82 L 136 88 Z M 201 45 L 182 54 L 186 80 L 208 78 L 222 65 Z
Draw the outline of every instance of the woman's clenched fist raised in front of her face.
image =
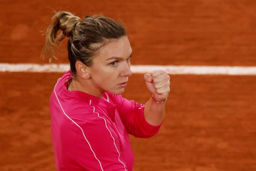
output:
M 155 70 L 145 74 L 144 79 L 148 90 L 157 102 L 163 102 L 170 92 L 170 76 L 164 70 Z

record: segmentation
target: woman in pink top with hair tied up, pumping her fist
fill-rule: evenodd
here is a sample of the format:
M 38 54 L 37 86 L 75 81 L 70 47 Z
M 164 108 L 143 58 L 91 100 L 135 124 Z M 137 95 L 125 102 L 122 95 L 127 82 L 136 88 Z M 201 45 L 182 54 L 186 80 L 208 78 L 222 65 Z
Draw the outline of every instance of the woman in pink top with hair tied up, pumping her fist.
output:
M 170 77 L 162 70 L 145 74 L 151 98 L 146 104 L 134 104 L 121 96 L 132 75 L 132 48 L 123 26 L 104 16 L 80 19 L 57 12 L 42 56 L 50 51 L 49 60 L 55 58 L 56 40 L 65 37 L 69 37 L 70 71 L 58 80 L 50 99 L 57 168 L 131 171 L 134 157 L 128 133 L 143 138 L 156 135 Z

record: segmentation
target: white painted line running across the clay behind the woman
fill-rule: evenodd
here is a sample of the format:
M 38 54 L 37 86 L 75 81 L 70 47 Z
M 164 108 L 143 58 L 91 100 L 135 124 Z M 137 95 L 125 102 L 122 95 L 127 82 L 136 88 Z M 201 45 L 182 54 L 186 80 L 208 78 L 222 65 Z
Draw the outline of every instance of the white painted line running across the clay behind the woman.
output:
M 57 72 L 69 70 L 69 64 L 9 64 L 0 63 L 0 72 Z M 256 66 L 172 66 L 172 65 L 132 65 L 132 73 L 150 73 L 165 70 L 168 74 L 220 74 L 256 75 Z

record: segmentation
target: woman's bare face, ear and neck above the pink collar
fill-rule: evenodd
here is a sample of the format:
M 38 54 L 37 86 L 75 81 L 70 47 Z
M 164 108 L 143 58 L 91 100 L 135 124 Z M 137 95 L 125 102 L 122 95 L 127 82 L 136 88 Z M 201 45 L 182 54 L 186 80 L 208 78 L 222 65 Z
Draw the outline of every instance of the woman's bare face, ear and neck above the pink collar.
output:
M 102 98 L 108 91 L 122 94 L 124 86 L 132 75 L 130 56 L 132 48 L 127 37 L 111 41 L 100 53 L 93 58 L 92 66 L 85 66 L 81 61 L 76 62 L 78 78 L 72 81 L 72 90 L 79 90 Z M 87 79 L 86 79 L 87 77 Z

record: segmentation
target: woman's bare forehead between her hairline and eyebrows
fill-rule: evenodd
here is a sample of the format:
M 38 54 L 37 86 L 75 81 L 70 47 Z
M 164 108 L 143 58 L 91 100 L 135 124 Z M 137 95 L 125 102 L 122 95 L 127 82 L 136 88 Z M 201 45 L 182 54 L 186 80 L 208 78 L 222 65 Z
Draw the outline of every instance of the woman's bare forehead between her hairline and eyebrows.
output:
M 132 53 L 132 48 L 127 36 L 107 43 L 96 58 L 104 60 L 109 57 L 128 58 Z

